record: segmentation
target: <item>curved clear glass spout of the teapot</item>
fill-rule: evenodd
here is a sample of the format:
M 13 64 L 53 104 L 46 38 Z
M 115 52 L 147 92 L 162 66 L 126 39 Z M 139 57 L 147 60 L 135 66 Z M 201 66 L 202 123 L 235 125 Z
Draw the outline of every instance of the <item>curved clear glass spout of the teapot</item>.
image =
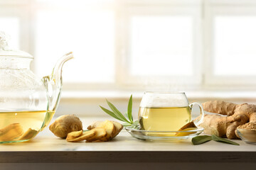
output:
M 48 98 L 48 111 L 55 111 L 60 102 L 60 92 L 62 88 L 62 68 L 63 64 L 68 60 L 73 59 L 73 52 L 63 55 L 53 68 L 52 74 L 43 77 L 43 84 L 46 86 Z

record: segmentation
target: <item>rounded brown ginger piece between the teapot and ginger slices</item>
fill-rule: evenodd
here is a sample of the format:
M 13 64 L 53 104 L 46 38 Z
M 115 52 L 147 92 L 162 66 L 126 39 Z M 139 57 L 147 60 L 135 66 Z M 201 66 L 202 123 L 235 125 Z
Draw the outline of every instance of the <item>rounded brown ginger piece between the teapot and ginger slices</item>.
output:
M 75 115 L 62 115 L 49 127 L 57 137 L 66 138 L 68 133 L 82 130 L 82 122 Z

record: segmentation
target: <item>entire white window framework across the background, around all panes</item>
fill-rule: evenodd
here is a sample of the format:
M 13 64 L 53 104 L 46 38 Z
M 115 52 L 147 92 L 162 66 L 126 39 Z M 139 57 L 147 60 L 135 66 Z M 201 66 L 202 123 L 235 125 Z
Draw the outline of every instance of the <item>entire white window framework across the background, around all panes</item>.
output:
M 34 54 L 34 14 L 38 8 L 55 8 L 47 6 L 47 3 L 39 4 L 36 0 L 0 0 L 0 15 L 15 16 L 21 19 L 20 45 L 21 49 Z M 106 5 L 108 6 L 108 4 Z M 191 8 L 193 7 L 193 8 Z M 255 0 L 115 0 L 114 4 L 107 8 L 113 8 L 116 13 L 116 51 L 115 51 L 115 82 L 113 84 L 64 84 L 64 90 L 142 90 L 147 86 L 154 90 L 155 84 L 145 84 L 143 77 L 134 77 L 128 72 L 129 63 L 129 18 L 134 14 L 145 15 L 173 15 L 181 11 L 188 12 L 194 18 L 194 54 L 193 68 L 194 78 L 186 78 L 186 82 L 179 77 L 154 77 L 157 79 L 157 88 L 166 84 L 176 84 L 179 89 L 210 90 L 229 89 L 228 85 L 237 89 L 256 89 L 256 77 L 216 77 L 213 75 L 213 17 L 216 15 L 256 15 Z M 180 11 L 178 10 L 180 9 Z M 143 9 L 141 11 L 141 9 Z M 159 78 L 159 79 L 158 79 Z M 168 79 L 168 81 L 166 81 Z M 242 79 L 242 81 L 240 81 Z M 189 83 L 188 83 L 189 82 Z

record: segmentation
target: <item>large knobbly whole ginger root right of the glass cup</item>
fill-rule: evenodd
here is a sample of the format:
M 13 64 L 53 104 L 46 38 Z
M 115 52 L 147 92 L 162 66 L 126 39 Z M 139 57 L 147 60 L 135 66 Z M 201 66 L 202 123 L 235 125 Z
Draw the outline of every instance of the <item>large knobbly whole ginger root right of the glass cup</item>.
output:
M 199 126 L 204 128 L 205 133 L 237 139 L 236 128 L 246 123 L 256 122 L 256 105 L 235 104 L 224 101 L 207 101 L 203 103 L 204 111 L 218 113 L 220 115 L 205 115 L 203 123 Z M 227 116 L 221 116 L 227 115 Z

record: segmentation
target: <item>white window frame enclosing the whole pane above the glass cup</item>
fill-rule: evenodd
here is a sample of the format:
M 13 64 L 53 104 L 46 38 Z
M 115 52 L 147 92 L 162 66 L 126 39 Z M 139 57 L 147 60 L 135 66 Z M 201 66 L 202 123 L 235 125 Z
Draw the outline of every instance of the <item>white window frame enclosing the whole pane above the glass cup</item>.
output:
M 143 85 L 148 82 L 149 76 L 134 76 L 129 74 L 129 55 L 131 53 L 131 40 L 129 40 L 131 31 L 130 18 L 132 16 L 192 16 L 193 18 L 193 76 L 150 76 L 150 79 L 155 79 L 156 84 L 147 87 L 154 89 L 154 86 L 161 88 L 167 84 L 182 85 L 185 82 L 193 87 L 201 85 L 201 5 L 200 1 L 140 1 L 140 4 L 130 1 L 129 4 L 122 4 L 122 10 L 119 10 L 119 23 L 121 26 L 117 28 L 117 70 L 121 71 L 117 81 L 123 86 L 144 89 Z M 191 87 L 190 86 L 190 87 Z

